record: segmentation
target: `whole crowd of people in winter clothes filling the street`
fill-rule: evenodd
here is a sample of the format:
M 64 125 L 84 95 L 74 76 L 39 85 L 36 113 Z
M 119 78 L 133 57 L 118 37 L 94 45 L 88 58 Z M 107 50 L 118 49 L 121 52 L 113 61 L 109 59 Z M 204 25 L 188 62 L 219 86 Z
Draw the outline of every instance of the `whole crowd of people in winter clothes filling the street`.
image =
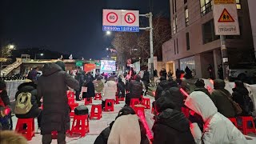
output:
M 190 70 L 186 71 L 190 73 Z M 234 92 L 230 94 L 225 89 L 225 82 L 216 79 L 214 91 L 210 93 L 202 79 L 194 83 L 196 87 L 191 91 L 184 78 L 177 78 L 174 81 L 169 77 L 167 80 L 167 73 L 164 70 L 160 75 L 162 77 L 152 104 L 154 106 L 153 139 L 147 138 L 142 119 L 130 107 L 131 98 L 142 100 L 144 92 L 148 89 L 150 74 L 147 71 L 144 71 L 142 78 L 139 74 L 124 76 L 121 74 L 119 77 L 109 78 L 105 78 L 105 74 L 102 74 L 95 79 L 90 73 L 86 74 L 80 70 L 73 78 L 66 73 L 63 62 L 46 63 L 40 78 L 31 77 L 18 86 L 15 110 L 12 111 L 17 118 L 38 119 L 37 132 L 42 134 L 43 144 L 51 143 L 52 131 L 58 131 L 58 143 L 64 144 L 66 130 L 70 129 L 70 106 L 66 90 L 71 88 L 76 92 L 77 101 L 102 94 L 102 109 L 110 105 L 106 103 L 106 99 L 115 99 L 116 96 L 126 99 L 126 104 L 118 112 L 118 116 L 110 126 L 102 130 L 94 144 L 247 143 L 245 136 L 228 119 L 251 116 L 254 111 L 254 104 L 242 82 L 236 81 Z M 0 81 L 0 96 L 0 106 L 11 110 L 4 81 Z M 238 113 L 233 102 L 238 103 L 242 112 Z M 22 106 L 26 106 L 26 109 Z M 8 125 L 1 126 L 2 129 L 12 130 L 10 114 L 6 114 L 5 117 L 8 119 Z M 2 135 L 5 133 L 1 132 L 0 138 L 3 137 Z M 6 138 L 0 139 L 1 143 L 6 141 L 8 141 Z M 22 138 L 20 141 L 23 141 Z

